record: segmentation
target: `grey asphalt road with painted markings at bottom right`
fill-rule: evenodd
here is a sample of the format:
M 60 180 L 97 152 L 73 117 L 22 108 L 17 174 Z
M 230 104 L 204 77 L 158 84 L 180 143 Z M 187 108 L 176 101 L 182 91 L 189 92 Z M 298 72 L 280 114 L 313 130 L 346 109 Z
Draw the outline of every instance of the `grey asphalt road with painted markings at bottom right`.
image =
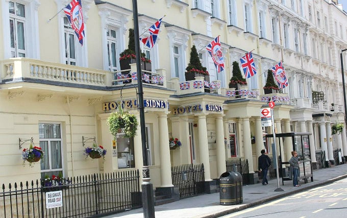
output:
M 226 216 L 246 218 L 347 217 L 347 179 Z

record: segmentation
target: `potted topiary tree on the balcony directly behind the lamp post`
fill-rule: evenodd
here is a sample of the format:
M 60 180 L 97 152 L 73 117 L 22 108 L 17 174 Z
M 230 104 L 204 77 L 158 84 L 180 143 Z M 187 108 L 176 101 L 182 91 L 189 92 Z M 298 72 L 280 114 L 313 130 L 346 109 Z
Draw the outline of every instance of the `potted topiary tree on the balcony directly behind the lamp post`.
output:
M 135 35 L 134 29 L 129 29 L 128 49 L 119 54 L 119 66 L 121 70 L 130 69 L 129 64 L 136 63 L 135 55 Z M 141 52 L 141 69 L 151 71 L 151 60 L 145 58 L 145 54 Z M 124 71 L 122 74 L 129 74 L 129 71 Z M 147 73 L 146 73 L 147 74 Z M 148 73 L 149 74 L 149 73 Z

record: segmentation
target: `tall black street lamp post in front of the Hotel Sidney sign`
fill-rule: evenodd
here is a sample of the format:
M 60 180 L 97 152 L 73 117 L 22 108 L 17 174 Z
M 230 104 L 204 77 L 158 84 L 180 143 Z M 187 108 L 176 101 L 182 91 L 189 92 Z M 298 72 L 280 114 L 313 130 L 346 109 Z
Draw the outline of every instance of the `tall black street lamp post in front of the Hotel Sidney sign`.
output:
M 137 12 L 137 0 L 133 0 L 133 16 L 134 16 L 134 35 L 135 35 L 135 54 L 136 54 L 136 71 L 137 71 L 137 86 L 139 97 L 139 112 L 140 112 L 140 129 L 141 129 L 141 143 L 142 143 L 142 208 L 144 218 L 154 218 L 154 199 L 153 199 L 153 184 L 151 183 L 150 169 L 148 168 L 146 135 L 145 135 L 145 121 L 144 121 L 144 108 L 143 108 L 143 88 L 142 88 L 142 71 L 141 71 L 141 57 L 140 57 L 140 36 L 139 36 L 139 22 Z

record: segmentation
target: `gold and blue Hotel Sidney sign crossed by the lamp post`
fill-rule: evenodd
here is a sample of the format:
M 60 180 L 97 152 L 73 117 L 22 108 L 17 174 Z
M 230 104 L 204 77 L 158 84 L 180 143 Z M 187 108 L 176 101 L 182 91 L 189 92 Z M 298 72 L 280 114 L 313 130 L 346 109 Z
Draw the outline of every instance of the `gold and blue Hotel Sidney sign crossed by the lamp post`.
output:
M 115 110 L 119 104 L 120 102 L 105 102 L 103 103 L 103 110 Z M 137 107 L 138 103 L 137 100 L 126 100 L 122 101 L 122 105 L 123 108 L 133 108 Z M 143 101 L 143 106 L 149 108 L 168 108 L 168 105 L 167 101 L 162 100 L 145 99 Z

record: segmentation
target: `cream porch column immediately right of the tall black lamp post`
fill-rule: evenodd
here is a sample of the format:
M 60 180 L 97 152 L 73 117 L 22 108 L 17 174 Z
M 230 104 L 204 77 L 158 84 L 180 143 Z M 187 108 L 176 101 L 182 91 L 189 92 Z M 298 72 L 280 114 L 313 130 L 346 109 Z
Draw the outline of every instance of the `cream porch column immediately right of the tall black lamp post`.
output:
M 167 113 L 158 114 L 161 187 L 172 187 Z

